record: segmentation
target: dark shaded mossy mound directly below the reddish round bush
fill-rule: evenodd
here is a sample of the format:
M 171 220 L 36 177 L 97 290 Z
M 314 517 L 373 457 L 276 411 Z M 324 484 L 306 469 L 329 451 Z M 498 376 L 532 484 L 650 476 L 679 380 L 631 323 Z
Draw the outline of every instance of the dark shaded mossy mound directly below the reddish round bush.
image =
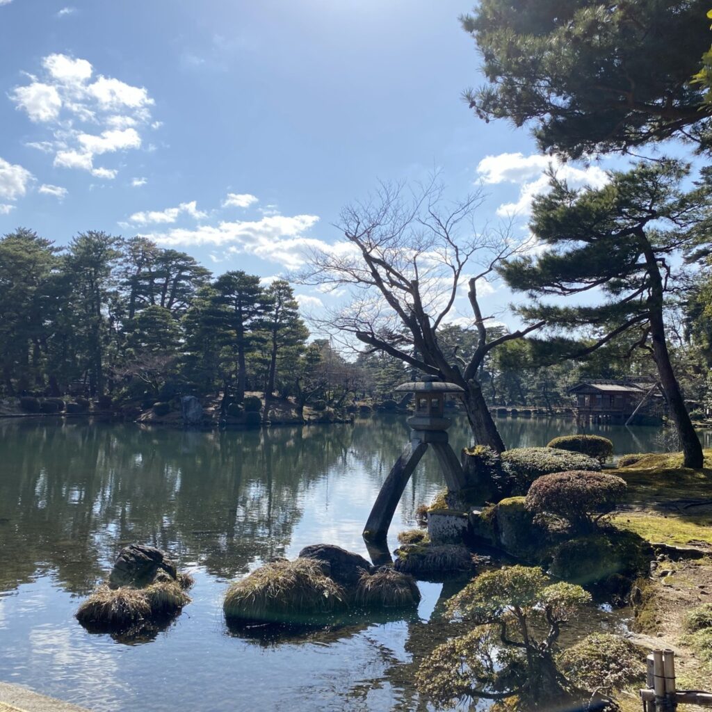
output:
M 556 545 L 550 570 L 553 575 L 580 585 L 621 587 L 649 570 L 650 545 L 632 532 L 601 530 Z

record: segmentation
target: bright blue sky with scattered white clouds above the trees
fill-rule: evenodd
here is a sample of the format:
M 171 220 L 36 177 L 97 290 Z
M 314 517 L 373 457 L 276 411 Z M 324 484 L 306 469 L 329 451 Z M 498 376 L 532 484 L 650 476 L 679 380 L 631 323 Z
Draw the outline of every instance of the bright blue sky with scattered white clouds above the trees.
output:
M 140 234 L 270 278 L 338 241 L 378 179 L 436 167 L 454 199 L 483 185 L 478 223 L 525 236 L 550 159 L 461 99 L 483 83 L 466 1 L 65 2 L 0 0 L 0 234 Z

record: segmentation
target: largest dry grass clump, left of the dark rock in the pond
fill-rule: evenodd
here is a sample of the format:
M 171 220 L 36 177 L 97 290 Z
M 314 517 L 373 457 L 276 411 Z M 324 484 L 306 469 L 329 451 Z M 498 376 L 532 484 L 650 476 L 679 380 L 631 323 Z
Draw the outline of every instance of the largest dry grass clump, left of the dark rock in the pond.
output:
M 232 584 L 223 610 L 228 619 L 295 622 L 346 607 L 345 591 L 312 559 L 275 561 Z

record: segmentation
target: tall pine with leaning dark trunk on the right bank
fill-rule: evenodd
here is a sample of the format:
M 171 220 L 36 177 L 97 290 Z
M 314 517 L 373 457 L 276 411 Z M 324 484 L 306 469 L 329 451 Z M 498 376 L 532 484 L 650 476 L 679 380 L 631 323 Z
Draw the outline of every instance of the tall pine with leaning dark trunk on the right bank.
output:
M 681 192 L 688 167 L 666 161 L 613 172 L 602 189 L 573 190 L 555 177 L 550 194 L 534 201 L 533 233 L 548 246 L 537 258 L 515 258 L 501 267 L 511 288 L 536 301 L 520 308 L 527 320 L 550 330 L 587 330 L 591 345 L 571 344 L 585 355 L 635 330 L 634 346 L 651 352 L 669 404 L 686 467 L 702 466 L 702 448 L 671 365 L 664 307 L 681 251 L 691 249 L 706 226 L 706 187 Z M 600 304 L 542 303 L 540 298 L 600 289 Z M 589 335 L 588 333 L 586 335 Z

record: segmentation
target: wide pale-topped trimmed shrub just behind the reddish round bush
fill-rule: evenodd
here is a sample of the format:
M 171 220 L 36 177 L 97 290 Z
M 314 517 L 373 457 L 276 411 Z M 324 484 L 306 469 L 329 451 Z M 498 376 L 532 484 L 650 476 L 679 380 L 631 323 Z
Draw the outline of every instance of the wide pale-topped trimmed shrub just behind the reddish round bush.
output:
M 506 450 L 501 455 L 503 470 L 509 482 L 503 493 L 506 495 L 525 494 L 531 483 L 543 475 L 567 470 L 588 470 L 597 472 L 599 461 L 567 450 L 550 447 L 521 447 Z

